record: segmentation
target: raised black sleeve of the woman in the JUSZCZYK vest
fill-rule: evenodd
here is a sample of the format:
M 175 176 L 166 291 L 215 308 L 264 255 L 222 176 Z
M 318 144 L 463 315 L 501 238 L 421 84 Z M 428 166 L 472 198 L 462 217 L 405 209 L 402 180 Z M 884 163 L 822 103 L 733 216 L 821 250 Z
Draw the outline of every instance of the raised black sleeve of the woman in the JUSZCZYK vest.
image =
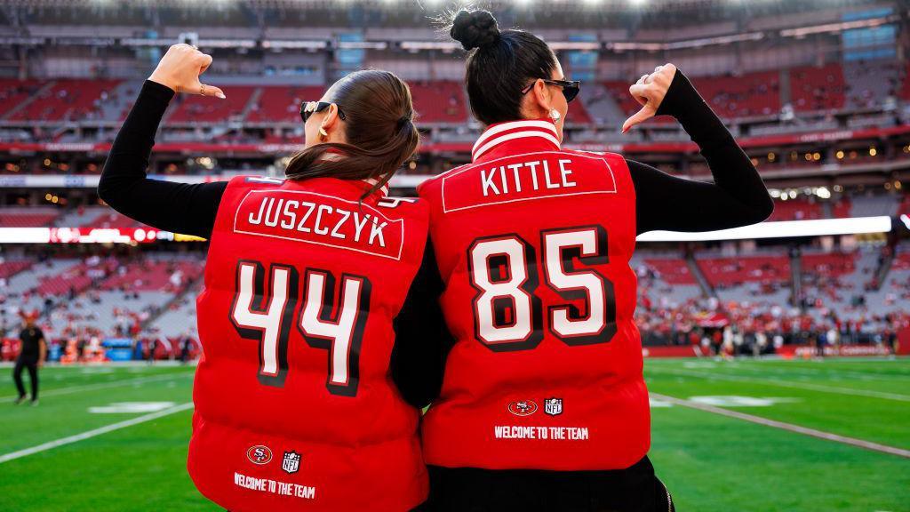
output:
M 146 80 L 107 155 L 98 197 L 159 230 L 208 238 L 226 181 L 188 184 L 146 177 L 155 132 L 172 97 L 170 87 Z

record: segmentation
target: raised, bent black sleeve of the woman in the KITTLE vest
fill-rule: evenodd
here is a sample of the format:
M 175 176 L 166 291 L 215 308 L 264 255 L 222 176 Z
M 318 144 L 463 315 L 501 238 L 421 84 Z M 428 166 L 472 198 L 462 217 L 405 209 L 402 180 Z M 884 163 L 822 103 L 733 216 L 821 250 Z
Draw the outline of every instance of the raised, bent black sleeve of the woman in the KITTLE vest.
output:
M 709 231 L 755 224 L 774 208 L 758 170 L 692 83 L 676 71 L 658 115 L 676 118 L 708 161 L 714 182 L 670 176 L 627 160 L 637 231 Z

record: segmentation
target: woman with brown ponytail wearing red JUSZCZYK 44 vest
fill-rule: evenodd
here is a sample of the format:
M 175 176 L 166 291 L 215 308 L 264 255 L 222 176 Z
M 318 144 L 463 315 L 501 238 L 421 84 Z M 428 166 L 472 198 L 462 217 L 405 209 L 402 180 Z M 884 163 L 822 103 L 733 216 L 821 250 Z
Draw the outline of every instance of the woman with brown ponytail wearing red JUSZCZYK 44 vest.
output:
M 148 179 L 174 95 L 225 97 L 199 81 L 211 60 L 192 46 L 167 51 L 98 186 L 126 216 L 209 240 L 190 476 L 235 512 L 418 507 L 420 407 L 434 387 L 425 369 L 439 364 L 425 339 L 445 334 L 427 206 L 386 197 L 420 141 L 410 90 L 359 71 L 303 104 L 306 142 L 287 179 Z

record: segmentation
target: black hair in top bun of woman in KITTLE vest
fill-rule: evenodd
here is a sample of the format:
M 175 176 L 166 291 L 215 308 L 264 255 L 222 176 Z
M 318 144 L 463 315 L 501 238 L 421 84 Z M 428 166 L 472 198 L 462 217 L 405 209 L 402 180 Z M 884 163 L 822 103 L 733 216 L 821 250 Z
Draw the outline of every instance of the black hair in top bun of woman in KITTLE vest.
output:
M 541 38 L 522 30 L 500 31 L 488 11 L 459 11 L 449 32 L 469 51 L 465 73 L 470 109 L 485 125 L 521 119 L 521 89 L 550 78 L 556 56 Z

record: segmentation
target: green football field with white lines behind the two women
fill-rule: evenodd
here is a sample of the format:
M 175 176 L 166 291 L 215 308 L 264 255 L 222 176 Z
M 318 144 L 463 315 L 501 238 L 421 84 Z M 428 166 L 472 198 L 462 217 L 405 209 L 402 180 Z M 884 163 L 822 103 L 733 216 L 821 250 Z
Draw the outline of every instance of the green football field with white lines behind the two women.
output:
M 910 511 L 910 359 L 645 370 L 678 510 Z M 185 469 L 192 367 L 46 367 L 37 407 L 0 372 L 0 510 L 218 509 Z

